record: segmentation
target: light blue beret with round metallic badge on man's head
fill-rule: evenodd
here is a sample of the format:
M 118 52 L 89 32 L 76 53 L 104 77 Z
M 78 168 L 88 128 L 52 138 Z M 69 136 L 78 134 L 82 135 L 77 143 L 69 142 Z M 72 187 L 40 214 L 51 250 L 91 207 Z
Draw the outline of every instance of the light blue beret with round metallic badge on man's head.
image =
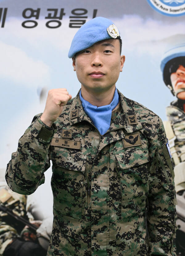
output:
M 112 27 L 111 25 L 113 25 L 113 22 L 103 17 L 97 17 L 86 22 L 76 32 L 69 49 L 68 57 L 72 58 L 77 52 L 85 50 L 99 41 L 120 38 L 116 26 L 113 25 Z

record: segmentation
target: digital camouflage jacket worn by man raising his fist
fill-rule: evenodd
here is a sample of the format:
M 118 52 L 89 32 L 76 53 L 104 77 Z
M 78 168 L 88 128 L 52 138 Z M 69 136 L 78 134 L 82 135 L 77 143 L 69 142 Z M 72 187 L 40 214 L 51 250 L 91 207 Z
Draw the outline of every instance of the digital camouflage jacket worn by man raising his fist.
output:
M 51 128 L 36 116 L 7 165 L 10 188 L 30 194 L 52 160 L 47 255 L 176 255 L 174 173 L 162 121 L 118 93 L 121 105 L 104 135 L 78 94 Z

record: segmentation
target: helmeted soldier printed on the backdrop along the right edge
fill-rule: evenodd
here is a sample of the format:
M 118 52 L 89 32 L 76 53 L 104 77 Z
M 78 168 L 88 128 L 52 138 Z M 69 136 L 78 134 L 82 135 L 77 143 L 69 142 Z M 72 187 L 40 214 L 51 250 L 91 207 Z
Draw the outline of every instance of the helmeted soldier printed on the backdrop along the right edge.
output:
M 178 255 L 185 255 L 185 43 L 172 45 L 161 61 L 166 86 L 177 97 L 166 108 L 168 121 L 164 121 L 175 165 L 175 191 L 177 196 Z

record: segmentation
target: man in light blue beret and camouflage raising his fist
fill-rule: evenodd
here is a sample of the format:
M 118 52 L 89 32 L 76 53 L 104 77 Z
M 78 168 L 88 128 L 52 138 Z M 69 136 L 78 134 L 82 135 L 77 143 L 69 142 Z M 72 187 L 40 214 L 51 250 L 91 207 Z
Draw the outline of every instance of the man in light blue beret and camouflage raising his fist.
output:
M 10 188 L 31 194 L 52 160 L 53 230 L 47 255 L 176 255 L 174 172 L 161 119 L 125 98 L 119 31 L 97 17 L 68 54 L 81 83 L 48 93 L 7 165 Z M 147 228 L 146 228 L 147 222 Z

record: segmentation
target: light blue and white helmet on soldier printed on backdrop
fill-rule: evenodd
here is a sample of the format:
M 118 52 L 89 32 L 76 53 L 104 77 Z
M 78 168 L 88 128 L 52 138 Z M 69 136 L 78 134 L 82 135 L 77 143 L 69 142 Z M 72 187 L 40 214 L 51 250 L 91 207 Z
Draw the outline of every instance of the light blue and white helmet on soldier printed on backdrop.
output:
M 161 71 L 163 72 L 164 67 L 169 60 L 172 60 L 176 57 L 183 57 L 183 56 L 185 56 L 185 43 L 171 46 L 171 48 L 168 49 L 162 57 L 161 65 L 160 65 Z

